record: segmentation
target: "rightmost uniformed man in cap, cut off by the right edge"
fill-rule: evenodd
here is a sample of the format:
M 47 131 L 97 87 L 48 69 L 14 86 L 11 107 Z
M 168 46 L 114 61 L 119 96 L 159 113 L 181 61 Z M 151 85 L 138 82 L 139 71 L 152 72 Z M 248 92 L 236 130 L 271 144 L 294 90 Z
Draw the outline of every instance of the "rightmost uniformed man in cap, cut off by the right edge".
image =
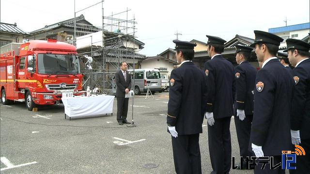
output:
M 286 43 L 287 49 L 284 52 L 288 53 L 295 67 L 291 111 L 292 144 L 300 145 L 306 153 L 296 156 L 296 170 L 290 170 L 290 173 L 306 174 L 310 171 L 310 44 L 296 39 L 287 39 Z

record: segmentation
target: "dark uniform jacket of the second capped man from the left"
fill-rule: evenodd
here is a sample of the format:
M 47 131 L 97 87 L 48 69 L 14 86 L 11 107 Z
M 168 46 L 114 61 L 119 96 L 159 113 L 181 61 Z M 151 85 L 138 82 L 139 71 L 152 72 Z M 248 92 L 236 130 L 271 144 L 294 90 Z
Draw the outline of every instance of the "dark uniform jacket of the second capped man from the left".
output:
M 207 79 L 206 112 L 213 112 L 214 118 L 233 116 L 233 64 L 218 55 L 204 63 L 204 71 Z

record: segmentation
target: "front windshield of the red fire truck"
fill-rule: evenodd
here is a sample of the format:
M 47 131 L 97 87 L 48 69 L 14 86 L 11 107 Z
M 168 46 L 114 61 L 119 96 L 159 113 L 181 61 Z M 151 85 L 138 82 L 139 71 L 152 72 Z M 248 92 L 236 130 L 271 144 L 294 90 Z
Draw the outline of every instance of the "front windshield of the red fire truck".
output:
M 38 73 L 40 74 L 78 74 L 81 73 L 77 55 L 38 54 Z

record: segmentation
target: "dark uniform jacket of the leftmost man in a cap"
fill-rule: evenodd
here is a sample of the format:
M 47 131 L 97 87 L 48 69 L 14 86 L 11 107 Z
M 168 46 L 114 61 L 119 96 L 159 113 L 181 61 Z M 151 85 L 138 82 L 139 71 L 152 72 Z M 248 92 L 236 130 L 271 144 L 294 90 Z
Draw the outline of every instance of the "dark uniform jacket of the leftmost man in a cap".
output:
M 193 62 L 172 70 L 167 124 L 175 126 L 179 135 L 202 133 L 205 90 L 205 75 Z

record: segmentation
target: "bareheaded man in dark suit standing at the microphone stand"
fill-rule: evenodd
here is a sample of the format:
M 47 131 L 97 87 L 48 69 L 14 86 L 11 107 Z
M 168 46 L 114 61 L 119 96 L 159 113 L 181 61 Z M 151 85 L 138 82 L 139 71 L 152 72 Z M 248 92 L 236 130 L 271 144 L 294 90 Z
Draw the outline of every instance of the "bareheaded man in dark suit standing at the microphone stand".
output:
M 115 73 L 116 99 L 117 99 L 117 122 L 119 125 L 130 124 L 126 120 L 128 111 L 128 98 L 125 98 L 131 88 L 131 76 L 127 72 L 127 63 L 121 63 L 121 70 Z

